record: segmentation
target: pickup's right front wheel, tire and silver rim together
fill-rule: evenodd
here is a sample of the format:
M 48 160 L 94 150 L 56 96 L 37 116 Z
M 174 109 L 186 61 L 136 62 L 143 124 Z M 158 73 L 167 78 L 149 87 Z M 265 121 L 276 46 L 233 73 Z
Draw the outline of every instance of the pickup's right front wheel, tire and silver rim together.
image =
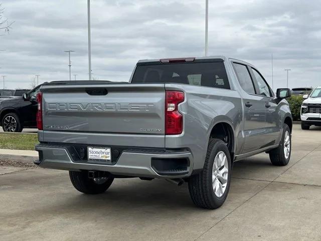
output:
M 279 146 L 269 152 L 270 161 L 275 166 L 286 166 L 291 157 L 291 131 L 284 124 L 282 139 Z

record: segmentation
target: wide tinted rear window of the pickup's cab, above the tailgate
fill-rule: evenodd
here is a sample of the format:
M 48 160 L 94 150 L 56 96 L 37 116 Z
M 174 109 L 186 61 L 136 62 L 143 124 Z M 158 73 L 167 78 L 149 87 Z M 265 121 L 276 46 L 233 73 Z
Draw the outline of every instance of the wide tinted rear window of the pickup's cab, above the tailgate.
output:
M 223 62 L 137 65 L 131 83 L 179 83 L 230 89 Z

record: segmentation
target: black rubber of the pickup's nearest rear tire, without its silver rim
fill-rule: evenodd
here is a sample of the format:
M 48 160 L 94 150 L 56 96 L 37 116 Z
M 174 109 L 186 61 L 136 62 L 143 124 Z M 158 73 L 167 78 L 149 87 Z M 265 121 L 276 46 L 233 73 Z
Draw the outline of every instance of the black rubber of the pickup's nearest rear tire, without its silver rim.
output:
M 228 177 L 225 192 L 221 197 L 218 197 L 213 189 L 212 169 L 214 159 L 221 151 L 224 152 L 227 158 Z M 210 139 L 202 172 L 191 176 L 189 179 L 189 191 L 194 204 L 208 209 L 216 209 L 222 206 L 230 189 L 231 176 L 232 162 L 226 144 L 219 139 Z

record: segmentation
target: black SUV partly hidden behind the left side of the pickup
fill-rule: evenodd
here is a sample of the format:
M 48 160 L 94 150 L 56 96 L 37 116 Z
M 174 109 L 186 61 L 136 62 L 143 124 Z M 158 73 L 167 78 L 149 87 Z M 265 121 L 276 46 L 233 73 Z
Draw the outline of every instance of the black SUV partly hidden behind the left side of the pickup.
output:
M 41 85 L 20 97 L 0 102 L 0 126 L 5 132 L 22 132 L 24 128 L 36 128 L 36 96 Z

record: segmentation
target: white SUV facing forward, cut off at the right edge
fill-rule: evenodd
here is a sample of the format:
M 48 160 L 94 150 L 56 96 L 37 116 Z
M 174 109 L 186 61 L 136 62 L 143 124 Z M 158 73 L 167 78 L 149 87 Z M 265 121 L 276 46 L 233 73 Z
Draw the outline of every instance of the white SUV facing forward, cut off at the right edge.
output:
M 308 130 L 311 125 L 321 126 L 321 86 L 316 87 L 310 95 L 303 95 L 301 106 L 301 128 Z

